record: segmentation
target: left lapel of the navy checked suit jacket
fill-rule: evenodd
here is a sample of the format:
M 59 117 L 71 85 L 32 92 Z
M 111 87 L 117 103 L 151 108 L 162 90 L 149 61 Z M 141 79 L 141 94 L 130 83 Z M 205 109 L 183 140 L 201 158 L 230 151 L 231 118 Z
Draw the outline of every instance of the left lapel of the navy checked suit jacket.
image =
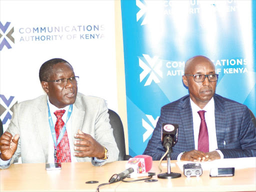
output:
M 184 135 L 186 139 L 187 150 L 194 149 L 194 131 L 193 131 L 193 118 L 190 105 L 190 97 L 186 97 L 181 104 L 180 118 L 184 128 Z

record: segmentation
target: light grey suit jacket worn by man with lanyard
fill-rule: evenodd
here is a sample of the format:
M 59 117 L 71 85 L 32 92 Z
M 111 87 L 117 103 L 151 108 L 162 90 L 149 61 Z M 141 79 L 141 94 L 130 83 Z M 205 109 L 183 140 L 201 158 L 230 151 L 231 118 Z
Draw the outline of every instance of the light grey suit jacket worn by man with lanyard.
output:
M 103 99 L 77 93 L 72 110 L 72 135 L 68 136 L 73 142 L 74 134 L 77 133 L 77 129 L 80 129 L 105 146 L 109 156 L 101 164 L 118 160 L 119 154 L 107 111 Z M 51 147 L 48 145 L 50 127 L 47 95 L 15 104 L 6 131 L 13 136 L 19 134 L 18 147 L 12 156 L 11 163 L 16 161 L 19 155 L 22 163 L 47 162 L 48 147 Z M 96 165 L 90 157 L 76 157 L 76 159 L 78 162 L 92 161 L 92 164 Z

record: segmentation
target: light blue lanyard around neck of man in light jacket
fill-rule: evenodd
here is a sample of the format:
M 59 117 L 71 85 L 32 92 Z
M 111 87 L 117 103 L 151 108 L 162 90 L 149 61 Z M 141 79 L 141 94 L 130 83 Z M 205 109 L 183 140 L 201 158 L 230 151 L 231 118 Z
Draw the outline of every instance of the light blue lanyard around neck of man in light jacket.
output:
M 49 125 L 50 125 L 50 131 L 51 131 L 51 136 L 52 136 L 52 139 L 53 139 L 53 142 L 54 142 L 54 145 L 55 145 L 55 149 L 57 148 L 57 145 L 58 143 L 60 142 L 60 140 L 62 139 L 63 135 L 65 134 L 65 131 L 66 131 L 66 123 L 72 113 L 72 109 L 73 109 L 73 105 L 70 104 L 69 105 L 69 108 L 68 108 L 68 112 L 67 112 L 67 116 L 66 116 L 66 122 L 64 124 L 64 127 L 62 128 L 59 136 L 58 136 L 58 139 L 56 139 L 56 132 L 55 132 L 55 128 L 53 126 L 53 122 L 52 122 L 52 118 L 51 118 L 51 115 L 50 115 L 50 108 L 49 108 L 49 104 L 47 102 L 47 105 L 48 105 L 48 121 L 49 121 Z

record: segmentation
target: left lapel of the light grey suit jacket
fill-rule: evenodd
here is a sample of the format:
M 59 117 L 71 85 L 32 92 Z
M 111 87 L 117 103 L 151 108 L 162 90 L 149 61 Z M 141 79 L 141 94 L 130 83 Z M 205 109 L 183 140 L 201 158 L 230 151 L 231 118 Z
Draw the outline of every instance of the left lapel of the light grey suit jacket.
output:
M 40 143 L 42 145 L 42 150 L 45 155 L 45 162 L 48 159 L 48 135 L 49 135 L 49 122 L 48 122 L 48 108 L 47 108 L 47 96 L 40 100 L 38 106 L 40 112 L 35 113 L 35 119 L 37 122 L 37 131 L 40 136 Z M 39 143 L 39 141 L 38 141 Z

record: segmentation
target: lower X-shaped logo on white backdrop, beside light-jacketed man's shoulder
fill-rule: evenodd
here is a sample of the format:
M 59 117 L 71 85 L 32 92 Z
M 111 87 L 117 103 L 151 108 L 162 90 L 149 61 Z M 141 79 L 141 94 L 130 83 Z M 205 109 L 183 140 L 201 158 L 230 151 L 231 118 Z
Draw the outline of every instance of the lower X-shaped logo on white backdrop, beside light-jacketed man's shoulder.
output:
M 17 103 L 14 99 L 14 96 L 10 96 L 8 99 L 0 94 L 0 117 L 2 119 L 2 124 L 5 124 L 8 120 L 11 119 L 13 112 L 13 105 Z

